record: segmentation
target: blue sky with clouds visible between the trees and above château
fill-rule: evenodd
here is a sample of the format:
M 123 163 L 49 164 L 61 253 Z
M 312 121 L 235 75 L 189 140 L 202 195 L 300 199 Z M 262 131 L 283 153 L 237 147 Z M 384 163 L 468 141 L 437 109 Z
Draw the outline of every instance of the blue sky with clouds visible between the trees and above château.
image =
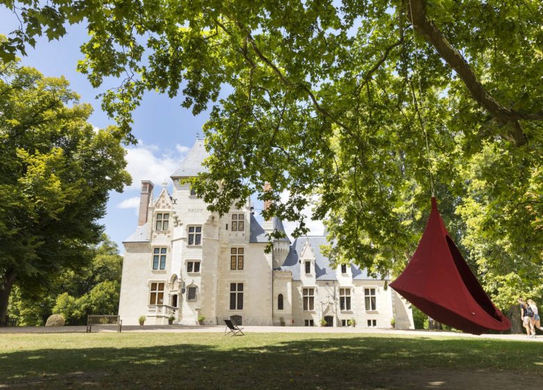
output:
M 0 34 L 8 35 L 17 29 L 17 18 L 0 7 Z M 27 48 L 27 56 L 22 57 L 22 65 L 32 66 L 43 75 L 60 77 L 70 81 L 70 88 L 81 95 L 81 102 L 93 105 L 94 112 L 90 122 L 100 128 L 114 124 L 100 108 L 96 95 L 107 88 L 118 86 L 116 80 L 107 80 L 106 85 L 95 89 L 85 75 L 77 72 L 77 61 L 83 58 L 79 47 L 87 40 L 84 24 L 68 26 L 67 35 L 61 40 L 49 42 L 40 38 L 36 48 Z M 159 93 L 147 93 L 140 106 L 134 111 L 132 134 L 139 140 L 136 146 L 127 146 L 127 170 L 132 175 L 132 185 L 125 188 L 123 194 L 111 192 L 107 205 L 107 215 L 102 224 L 111 239 L 118 243 L 123 253 L 121 242 L 136 229 L 139 207 L 139 183 L 152 180 L 155 187 L 162 187 L 167 180 L 171 192 L 170 175 L 178 167 L 187 150 L 194 144 L 196 134 L 202 134 L 201 128 L 207 119 L 207 113 L 194 116 L 191 111 L 180 107 L 182 97 L 175 99 Z M 260 208 L 256 205 L 256 208 Z M 322 224 L 310 224 L 313 234 L 322 234 Z M 285 223 L 290 233 L 294 224 Z

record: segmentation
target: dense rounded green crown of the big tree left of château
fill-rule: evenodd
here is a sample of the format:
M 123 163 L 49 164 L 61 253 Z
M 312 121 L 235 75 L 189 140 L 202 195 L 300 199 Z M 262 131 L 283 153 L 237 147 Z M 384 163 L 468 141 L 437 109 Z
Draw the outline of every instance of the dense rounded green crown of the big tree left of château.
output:
M 91 111 L 65 79 L 0 63 L 0 322 L 15 281 L 38 294 L 91 260 L 109 191 L 131 182 L 118 130 Z

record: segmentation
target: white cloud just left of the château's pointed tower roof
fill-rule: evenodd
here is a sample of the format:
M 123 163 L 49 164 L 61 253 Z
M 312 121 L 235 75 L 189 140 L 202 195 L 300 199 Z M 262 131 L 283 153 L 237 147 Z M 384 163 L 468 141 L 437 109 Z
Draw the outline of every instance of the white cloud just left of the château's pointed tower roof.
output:
M 126 189 L 139 189 L 141 180 L 151 180 L 160 188 L 166 180 L 170 184 L 170 175 L 178 169 L 189 148 L 176 145 L 175 151 L 162 150 L 156 145 L 139 144 L 127 148 L 127 171 L 132 175 L 132 185 Z

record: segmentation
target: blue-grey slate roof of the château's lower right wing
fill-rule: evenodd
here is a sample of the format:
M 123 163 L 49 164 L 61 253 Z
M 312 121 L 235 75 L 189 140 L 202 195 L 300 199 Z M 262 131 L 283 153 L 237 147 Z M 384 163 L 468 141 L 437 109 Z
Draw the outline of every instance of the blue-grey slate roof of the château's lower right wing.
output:
M 320 251 L 321 245 L 326 245 L 326 237 L 324 235 L 309 235 L 307 237 L 298 237 L 294 240 L 294 243 L 290 246 L 290 251 L 285 258 L 285 262 L 281 265 L 280 270 L 292 272 L 292 280 L 300 280 L 300 270 L 302 265 L 299 263 L 301 260 L 301 252 L 304 250 L 306 242 L 313 249 L 315 255 L 315 276 L 317 280 L 333 281 L 338 280 L 336 276 L 336 268 L 330 266 L 330 260 L 324 256 Z M 358 265 L 351 265 L 352 279 L 353 280 L 373 280 L 368 275 L 366 270 L 361 270 Z

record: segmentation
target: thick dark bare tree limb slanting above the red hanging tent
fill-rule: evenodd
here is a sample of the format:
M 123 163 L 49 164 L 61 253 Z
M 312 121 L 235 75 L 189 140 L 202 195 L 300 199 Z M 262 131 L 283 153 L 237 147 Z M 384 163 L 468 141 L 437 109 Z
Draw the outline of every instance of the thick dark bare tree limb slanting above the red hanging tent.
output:
M 424 0 L 409 0 L 408 12 L 416 31 L 423 35 L 434 46 L 439 56 L 457 72 L 475 101 L 503 125 L 512 126 L 512 130 L 507 132 L 507 134 L 503 134 L 504 137 L 514 141 L 517 146 L 526 144 L 528 140 L 526 139 L 526 134 L 521 129 L 519 120 L 541 120 L 543 119 L 543 113 L 521 114 L 495 100 L 485 90 L 485 87 L 479 81 L 462 54 L 453 45 L 450 45 L 450 42 L 443 36 L 443 33 L 427 18 L 424 9 Z

